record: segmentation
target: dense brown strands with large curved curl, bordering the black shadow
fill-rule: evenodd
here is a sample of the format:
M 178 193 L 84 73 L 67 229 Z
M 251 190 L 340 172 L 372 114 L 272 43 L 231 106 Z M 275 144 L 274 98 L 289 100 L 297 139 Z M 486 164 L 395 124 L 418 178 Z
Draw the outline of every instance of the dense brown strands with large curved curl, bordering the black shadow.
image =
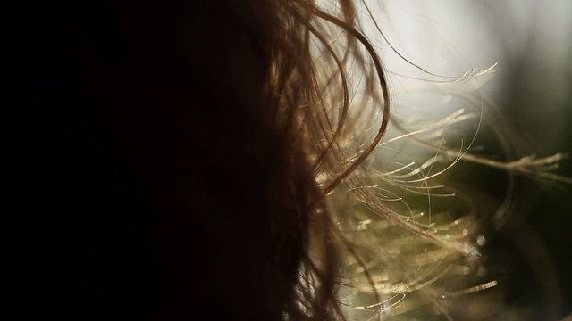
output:
M 284 154 L 290 159 L 287 173 L 294 186 L 291 193 L 300 206 L 299 226 L 293 229 L 301 228 L 302 233 L 299 276 L 285 316 L 290 320 L 344 319 L 337 294 L 341 251 L 349 251 L 357 259 L 375 299 L 381 300 L 364 262 L 336 224 L 347 219 L 332 210 L 342 203 L 333 205 L 327 199 L 341 188 L 360 185 L 357 170 L 388 126 L 388 85 L 381 59 L 357 29 L 352 1 L 333 5 L 337 12 L 326 12 L 314 1 L 277 1 L 273 5 L 265 11 L 276 14 L 267 20 L 272 28 L 268 29 L 265 51 L 270 62 L 265 106 L 269 108 L 270 127 L 285 142 Z M 352 95 L 356 94 L 346 71 L 350 63 L 367 73 L 361 83 L 362 103 L 354 103 L 357 111 L 350 111 Z M 363 126 L 357 119 L 366 111 L 366 102 L 376 106 L 382 120 L 374 137 L 359 146 L 357 133 Z M 279 231 L 288 228 L 277 226 Z M 412 230 L 417 231 L 415 227 Z

